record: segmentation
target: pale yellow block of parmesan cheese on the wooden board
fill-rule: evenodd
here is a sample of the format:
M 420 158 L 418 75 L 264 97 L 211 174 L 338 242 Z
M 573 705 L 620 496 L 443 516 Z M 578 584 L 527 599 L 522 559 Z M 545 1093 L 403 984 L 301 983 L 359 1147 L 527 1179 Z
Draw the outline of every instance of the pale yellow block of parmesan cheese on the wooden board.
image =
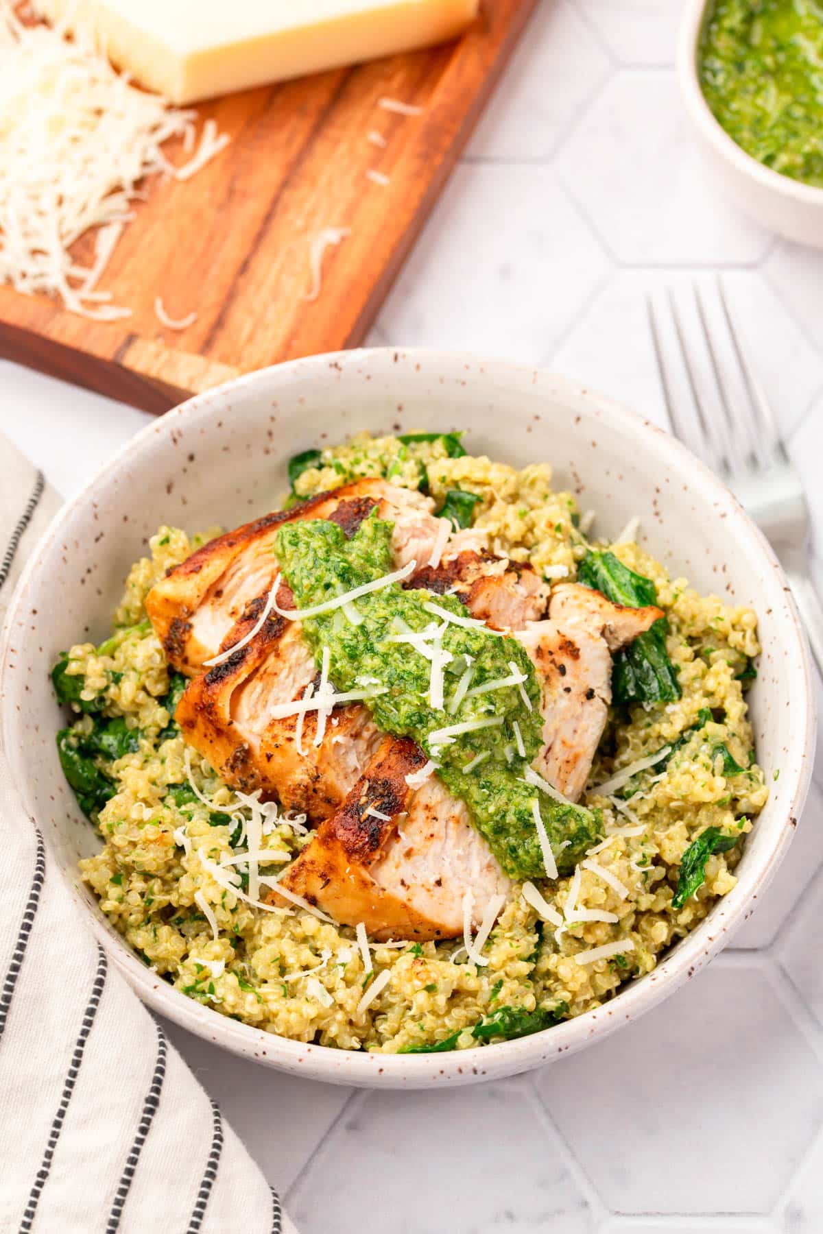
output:
M 453 38 L 480 0 L 36 0 L 172 102 L 318 73 Z

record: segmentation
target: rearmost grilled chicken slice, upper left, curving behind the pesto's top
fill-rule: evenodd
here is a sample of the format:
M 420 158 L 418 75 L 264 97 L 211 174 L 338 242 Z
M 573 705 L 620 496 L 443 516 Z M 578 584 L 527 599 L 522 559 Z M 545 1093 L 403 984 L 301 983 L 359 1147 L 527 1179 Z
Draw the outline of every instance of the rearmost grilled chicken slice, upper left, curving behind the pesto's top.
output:
M 400 568 L 431 559 L 440 526 L 432 515 L 433 505 L 431 497 L 385 480 L 355 480 L 204 544 L 146 597 L 146 611 L 169 663 L 189 676 L 199 673 L 227 643 L 247 606 L 268 595 L 279 569 L 274 538 L 284 523 L 331 518 L 352 536 L 376 508 L 381 518 L 395 524 L 392 553 Z

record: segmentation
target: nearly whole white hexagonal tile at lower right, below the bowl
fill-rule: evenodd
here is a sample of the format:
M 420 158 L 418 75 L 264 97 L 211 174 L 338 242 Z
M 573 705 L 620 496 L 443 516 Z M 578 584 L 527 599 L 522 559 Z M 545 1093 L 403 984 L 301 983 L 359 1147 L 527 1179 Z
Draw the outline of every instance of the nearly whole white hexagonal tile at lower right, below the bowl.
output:
M 622 1213 L 765 1213 L 823 1118 L 823 1072 L 774 986 L 760 967 L 724 959 L 537 1082 Z M 792 1093 L 791 1118 L 775 1117 L 776 1085 Z

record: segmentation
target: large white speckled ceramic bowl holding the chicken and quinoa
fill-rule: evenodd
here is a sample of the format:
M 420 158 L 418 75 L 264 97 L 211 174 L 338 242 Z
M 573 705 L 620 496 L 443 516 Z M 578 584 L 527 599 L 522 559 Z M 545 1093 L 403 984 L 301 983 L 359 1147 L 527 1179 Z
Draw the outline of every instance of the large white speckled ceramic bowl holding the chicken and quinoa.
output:
M 270 510 L 297 450 L 359 429 L 465 428 L 471 453 L 523 466 L 549 460 L 560 487 L 616 534 L 633 515 L 643 540 L 703 591 L 754 605 L 765 647 L 750 694 L 770 801 L 739 882 L 708 918 L 613 1002 L 534 1037 L 457 1054 L 378 1055 L 301 1045 L 226 1019 L 170 988 L 126 946 L 78 877 L 97 839 L 57 760 L 63 723 L 48 670 L 58 652 L 102 639 L 130 564 L 160 521 L 227 527 Z M 437 352 L 348 352 L 296 360 L 192 399 L 144 428 L 69 502 L 11 605 L 0 702 L 12 774 L 56 861 L 109 954 L 149 1006 L 207 1040 L 337 1083 L 423 1087 L 511 1075 L 579 1050 L 654 1007 L 697 972 L 754 909 L 797 823 L 814 716 L 804 639 L 771 549 L 734 497 L 660 429 L 573 381 Z M 780 769 L 780 779 L 771 772 Z

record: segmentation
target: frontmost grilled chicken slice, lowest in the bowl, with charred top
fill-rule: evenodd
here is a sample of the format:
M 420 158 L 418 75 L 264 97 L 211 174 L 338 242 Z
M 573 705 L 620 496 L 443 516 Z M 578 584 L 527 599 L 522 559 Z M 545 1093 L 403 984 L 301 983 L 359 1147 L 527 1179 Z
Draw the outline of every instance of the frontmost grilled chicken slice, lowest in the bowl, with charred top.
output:
M 470 888 L 478 926 L 511 884 L 463 802 L 436 776 L 408 786 L 406 776 L 424 763 L 415 742 L 386 737 L 281 885 L 344 926 L 363 922 L 378 939 L 454 938 Z M 276 888 L 269 898 L 278 901 Z

